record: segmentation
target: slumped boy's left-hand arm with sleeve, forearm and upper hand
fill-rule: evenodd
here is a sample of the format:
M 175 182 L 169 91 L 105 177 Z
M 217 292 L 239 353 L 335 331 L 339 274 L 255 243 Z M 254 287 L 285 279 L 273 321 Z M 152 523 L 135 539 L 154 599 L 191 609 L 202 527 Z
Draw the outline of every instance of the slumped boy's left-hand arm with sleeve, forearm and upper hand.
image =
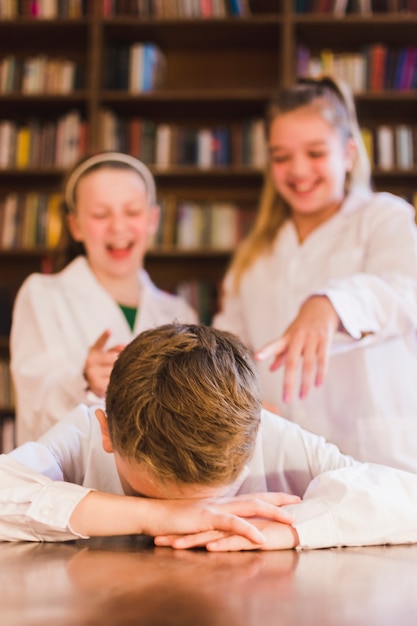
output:
M 152 500 L 91 491 L 34 472 L 15 459 L 0 458 L 0 540 L 67 541 L 125 534 L 191 534 L 219 530 L 263 536 L 244 517 L 288 520 L 285 494 L 254 494 L 221 502 Z

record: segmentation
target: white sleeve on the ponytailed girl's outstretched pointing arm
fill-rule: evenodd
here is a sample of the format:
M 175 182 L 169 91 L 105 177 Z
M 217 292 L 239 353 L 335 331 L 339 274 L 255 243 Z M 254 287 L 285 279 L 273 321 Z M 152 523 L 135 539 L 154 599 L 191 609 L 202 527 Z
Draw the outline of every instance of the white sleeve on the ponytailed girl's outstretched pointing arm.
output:
M 399 198 L 377 205 L 368 228 L 362 272 L 330 280 L 318 293 L 328 296 L 345 330 L 381 341 L 417 328 L 417 229 L 412 208 Z

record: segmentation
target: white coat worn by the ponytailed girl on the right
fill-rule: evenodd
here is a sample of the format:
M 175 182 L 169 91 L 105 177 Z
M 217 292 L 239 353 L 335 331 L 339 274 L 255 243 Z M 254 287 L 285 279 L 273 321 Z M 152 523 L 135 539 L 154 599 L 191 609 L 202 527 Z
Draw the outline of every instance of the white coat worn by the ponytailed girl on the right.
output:
M 226 277 L 213 325 L 256 351 L 277 339 L 314 293 L 327 294 L 337 333 L 325 383 L 282 401 L 283 368 L 260 363 L 264 400 L 361 461 L 417 472 L 417 229 L 412 207 L 388 193 L 351 195 L 300 244 L 294 225 L 245 273 Z M 360 339 L 362 333 L 371 333 Z

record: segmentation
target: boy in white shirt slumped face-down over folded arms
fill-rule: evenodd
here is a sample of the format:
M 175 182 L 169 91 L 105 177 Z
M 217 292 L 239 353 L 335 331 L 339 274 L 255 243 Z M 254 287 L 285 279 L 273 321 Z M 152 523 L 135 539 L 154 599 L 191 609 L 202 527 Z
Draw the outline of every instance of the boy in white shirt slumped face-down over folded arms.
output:
M 189 324 L 141 333 L 113 367 L 106 412 L 81 405 L 2 457 L 0 538 L 141 532 L 158 545 L 210 550 L 417 542 L 417 475 L 344 456 L 262 411 L 260 398 L 252 358 L 233 335 Z M 295 497 L 259 502 L 259 492 Z M 262 537 L 207 519 L 213 498 L 251 493 L 252 512 L 228 510 L 251 516 Z

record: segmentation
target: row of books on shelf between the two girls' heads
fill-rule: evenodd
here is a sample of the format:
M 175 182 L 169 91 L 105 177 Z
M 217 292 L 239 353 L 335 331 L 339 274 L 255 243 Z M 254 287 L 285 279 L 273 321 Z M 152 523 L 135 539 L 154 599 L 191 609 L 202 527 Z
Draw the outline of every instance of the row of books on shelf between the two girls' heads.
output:
M 267 148 L 262 119 L 245 119 L 215 128 L 156 124 L 138 117 L 101 114 L 101 137 L 106 150 L 128 152 L 158 167 L 218 165 L 264 167 Z

